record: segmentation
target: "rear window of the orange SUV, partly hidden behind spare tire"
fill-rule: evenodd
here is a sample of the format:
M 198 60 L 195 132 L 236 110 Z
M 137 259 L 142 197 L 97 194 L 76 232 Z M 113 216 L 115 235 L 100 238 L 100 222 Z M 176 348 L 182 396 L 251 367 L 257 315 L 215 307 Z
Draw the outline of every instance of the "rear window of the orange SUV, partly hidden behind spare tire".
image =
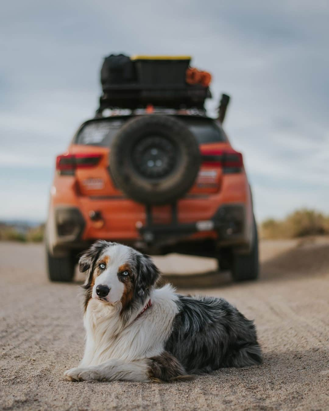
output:
M 129 118 L 95 120 L 86 123 L 78 132 L 75 143 L 110 146 L 114 136 Z M 179 117 L 195 135 L 199 144 L 226 141 L 214 120 L 209 118 Z

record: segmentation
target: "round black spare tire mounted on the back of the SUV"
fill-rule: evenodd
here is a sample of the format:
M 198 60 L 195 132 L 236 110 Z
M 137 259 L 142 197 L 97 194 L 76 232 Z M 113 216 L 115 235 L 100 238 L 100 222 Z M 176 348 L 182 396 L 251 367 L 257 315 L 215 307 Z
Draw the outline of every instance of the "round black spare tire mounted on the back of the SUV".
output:
M 110 170 L 128 197 L 168 204 L 192 187 L 200 166 L 195 136 L 176 118 L 143 115 L 129 120 L 111 145 Z

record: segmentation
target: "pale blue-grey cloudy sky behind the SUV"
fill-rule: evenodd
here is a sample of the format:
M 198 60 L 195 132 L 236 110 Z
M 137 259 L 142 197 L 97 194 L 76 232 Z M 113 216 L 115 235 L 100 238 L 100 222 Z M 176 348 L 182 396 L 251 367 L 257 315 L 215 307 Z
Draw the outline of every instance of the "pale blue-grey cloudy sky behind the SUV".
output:
M 0 15 L 0 219 L 46 219 L 56 155 L 111 53 L 189 54 L 243 153 L 258 221 L 329 213 L 327 0 L 13 0 Z

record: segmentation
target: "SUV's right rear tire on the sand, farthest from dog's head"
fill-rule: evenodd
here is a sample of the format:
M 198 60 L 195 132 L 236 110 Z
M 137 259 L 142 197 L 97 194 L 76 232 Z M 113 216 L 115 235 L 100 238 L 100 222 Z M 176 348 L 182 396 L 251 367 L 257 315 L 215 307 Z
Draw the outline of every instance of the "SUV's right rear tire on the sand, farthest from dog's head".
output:
M 232 256 L 232 278 L 236 282 L 255 280 L 259 275 L 258 261 L 258 234 L 255 217 L 253 220 L 253 243 L 248 254 L 235 254 Z

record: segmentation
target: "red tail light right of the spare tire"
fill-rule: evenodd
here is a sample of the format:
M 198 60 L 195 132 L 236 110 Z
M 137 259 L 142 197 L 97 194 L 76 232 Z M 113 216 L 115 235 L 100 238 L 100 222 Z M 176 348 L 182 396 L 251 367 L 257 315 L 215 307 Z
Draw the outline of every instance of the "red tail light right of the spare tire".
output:
M 223 173 L 240 173 L 243 169 L 242 154 L 233 149 L 201 150 L 202 165 L 222 167 Z

